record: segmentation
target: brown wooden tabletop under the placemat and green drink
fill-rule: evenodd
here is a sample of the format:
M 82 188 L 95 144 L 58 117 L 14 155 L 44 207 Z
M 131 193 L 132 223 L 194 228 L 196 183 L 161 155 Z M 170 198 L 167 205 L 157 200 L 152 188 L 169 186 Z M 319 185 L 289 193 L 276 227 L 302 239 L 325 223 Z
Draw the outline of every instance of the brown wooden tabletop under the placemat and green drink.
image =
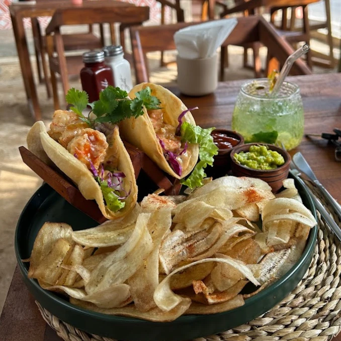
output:
M 305 111 L 305 132 L 332 132 L 341 128 L 341 73 L 289 77 L 301 89 Z M 181 96 L 187 107 L 198 106 L 193 111 L 197 124 L 202 127 L 229 128 L 234 102 L 243 80 L 219 83 L 214 95 L 190 98 Z M 174 92 L 178 94 L 177 90 Z M 323 140 L 304 139 L 291 151 L 301 151 L 310 163 L 317 178 L 341 201 L 341 162 L 334 160 L 333 146 Z M 18 268 L 13 276 L 3 313 L 0 317 L 0 338 L 3 341 L 60 341 L 45 323 L 33 297 L 26 289 Z M 341 335 L 333 341 L 341 341 Z

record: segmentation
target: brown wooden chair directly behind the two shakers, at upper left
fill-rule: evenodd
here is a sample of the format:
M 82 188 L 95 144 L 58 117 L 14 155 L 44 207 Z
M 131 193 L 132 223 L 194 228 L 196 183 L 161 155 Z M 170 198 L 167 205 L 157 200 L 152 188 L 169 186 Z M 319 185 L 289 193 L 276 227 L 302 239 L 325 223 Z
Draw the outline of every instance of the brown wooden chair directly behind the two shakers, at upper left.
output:
M 141 25 L 149 19 L 148 7 L 108 6 L 96 8 L 74 8 L 57 10 L 46 28 L 47 52 L 51 73 L 54 108 L 59 109 L 55 73 L 59 73 L 64 94 L 69 90 L 68 75 L 79 74 L 83 64 L 81 56 L 65 57 L 60 27 L 64 25 L 120 23 L 121 45 L 124 49 L 124 30 L 131 25 Z M 54 50 L 56 56 L 54 56 Z

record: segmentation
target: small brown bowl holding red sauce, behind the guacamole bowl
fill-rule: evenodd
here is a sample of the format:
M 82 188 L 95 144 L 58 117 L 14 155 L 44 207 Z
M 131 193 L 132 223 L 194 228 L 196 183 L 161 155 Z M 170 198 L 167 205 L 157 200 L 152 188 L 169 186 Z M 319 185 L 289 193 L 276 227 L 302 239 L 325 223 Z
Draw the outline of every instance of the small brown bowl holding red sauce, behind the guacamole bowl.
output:
M 211 134 L 214 134 L 214 133 L 226 134 L 229 137 L 233 137 L 239 140 L 239 143 L 232 148 L 218 149 L 218 155 L 214 156 L 213 167 L 207 167 L 205 169 L 205 173 L 207 174 L 208 177 L 220 178 L 220 177 L 225 176 L 231 169 L 230 153 L 232 150 L 234 150 L 234 148 L 244 143 L 244 138 L 236 131 L 229 130 L 229 129 L 223 129 L 223 128 L 214 129 Z

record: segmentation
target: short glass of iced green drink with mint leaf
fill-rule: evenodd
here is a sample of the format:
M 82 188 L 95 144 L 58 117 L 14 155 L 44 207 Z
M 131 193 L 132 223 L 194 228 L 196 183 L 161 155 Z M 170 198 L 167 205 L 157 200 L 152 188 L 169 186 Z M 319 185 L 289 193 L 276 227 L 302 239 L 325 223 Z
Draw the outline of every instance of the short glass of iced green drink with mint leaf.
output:
M 287 150 L 297 147 L 303 137 L 304 112 L 299 88 L 284 82 L 272 98 L 268 79 L 248 81 L 240 88 L 232 116 L 232 129 L 245 143 L 281 143 Z

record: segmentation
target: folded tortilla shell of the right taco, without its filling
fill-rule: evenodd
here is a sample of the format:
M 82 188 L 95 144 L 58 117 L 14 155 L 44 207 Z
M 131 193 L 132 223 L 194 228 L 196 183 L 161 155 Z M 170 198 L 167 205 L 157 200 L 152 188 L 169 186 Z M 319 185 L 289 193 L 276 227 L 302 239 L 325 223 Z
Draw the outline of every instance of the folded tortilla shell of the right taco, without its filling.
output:
M 136 97 L 135 93 L 146 87 L 149 87 L 151 89 L 151 94 L 160 100 L 164 121 L 167 124 L 177 127 L 179 124 L 178 117 L 183 111 L 187 110 L 184 103 L 169 90 L 153 83 L 138 84 L 130 91 L 129 97 L 134 99 Z M 185 121 L 194 126 L 196 125 L 190 112 L 185 114 L 183 122 Z M 183 167 L 181 176 L 178 176 L 163 155 L 162 147 L 156 137 L 153 125 L 145 109 L 142 116 L 122 121 L 120 123 L 120 133 L 125 141 L 144 151 L 161 169 L 164 170 L 164 172 L 174 178 L 185 178 L 192 172 L 198 161 L 199 145 L 189 144 L 187 148 L 190 157 L 188 166 Z

